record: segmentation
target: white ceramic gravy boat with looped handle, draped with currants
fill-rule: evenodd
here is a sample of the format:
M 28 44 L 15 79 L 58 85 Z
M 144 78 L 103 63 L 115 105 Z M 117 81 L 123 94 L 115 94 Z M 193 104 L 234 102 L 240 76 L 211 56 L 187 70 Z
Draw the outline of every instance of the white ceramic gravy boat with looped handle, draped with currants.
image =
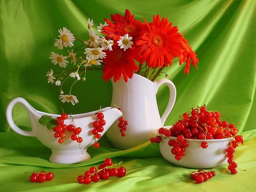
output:
M 31 131 L 25 131 L 16 126 L 13 120 L 13 107 L 17 104 L 22 104 L 27 111 L 28 117 L 30 119 Z M 53 130 L 48 130 L 46 126 L 39 123 L 39 119 L 43 115 L 51 116 L 52 118 L 57 118 L 60 115 L 48 114 L 46 112 L 38 111 L 30 105 L 23 98 L 13 99 L 6 109 L 6 118 L 10 127 L 20 135 L 24 136 L 34 136 L 42 144 L 51 149 L 52 155 L 49 157 L 49 161 L 57 162 L 61 164 L 73 164 L 77 162 L 82 162 L 88 160 L 90 155 L 87 151 L 88 147 L 98 141 L 98 139 L 93 135 L 93 122 L 97 120 L 96 113 L 99 110 L 86 112 L 82 114 L 75 114 L 64 120 L 65 125 L 73 124 L 75 127 L 81 127 L 81 132 L 79 136 L 82 137 L 82 142 L 77 143 L 71 139 L 73 131 L 65 131 L 66 136 L 63 143 L 58 143 L 58 139 L 55 138 L 55 132 Z M 109 127 L 122 116 L 122 112 L 117 108 L 105 107 L 101 108 L 100 112 L 104 114 L 104 120 L 106 124 L 103 126 L 104 130 L 100 132 L 101 135 L 109 129 Z

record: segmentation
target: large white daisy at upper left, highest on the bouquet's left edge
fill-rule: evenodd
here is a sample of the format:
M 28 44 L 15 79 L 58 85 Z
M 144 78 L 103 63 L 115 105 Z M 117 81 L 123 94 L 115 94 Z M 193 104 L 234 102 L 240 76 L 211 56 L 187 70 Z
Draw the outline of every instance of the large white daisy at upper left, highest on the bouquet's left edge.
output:
M 66 27 L 63 27 L 63 30 L 61 30 L 60 28 L 58 31 L 60 33 L 60 35 L 58 36 L 60 37 L 60 39 L 59 40 L 56 39 L 54 45 L 59 49 L 61 49 L 60 44 L 63 44 L 64 47 L 73 47 L 74 46 L 73 42 L 75 41 L 74 35 Z

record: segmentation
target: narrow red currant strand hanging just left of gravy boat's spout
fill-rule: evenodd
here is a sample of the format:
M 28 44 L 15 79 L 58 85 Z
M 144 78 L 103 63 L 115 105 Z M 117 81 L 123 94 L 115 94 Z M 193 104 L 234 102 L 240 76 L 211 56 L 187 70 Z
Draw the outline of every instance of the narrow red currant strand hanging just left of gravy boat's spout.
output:
M 93 122 L 93 130 L 92 133 L 94 135 L 94 148 L 99 148 L 100 144 L 96 142 L 96 139 L 101 139 L 101 132 L 104 131 L 104 127 L 106 121 L 104 120 L 104 114 L 102 112 L 97 112 L 95 114 L 97 116 L 97 120 Z

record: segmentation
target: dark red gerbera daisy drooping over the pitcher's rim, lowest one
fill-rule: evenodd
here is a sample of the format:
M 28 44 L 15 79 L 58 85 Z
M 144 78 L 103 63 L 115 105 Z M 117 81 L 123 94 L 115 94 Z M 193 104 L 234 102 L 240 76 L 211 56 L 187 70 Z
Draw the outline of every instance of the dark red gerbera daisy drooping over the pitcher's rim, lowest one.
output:
M 137 49 L 126 49 L 126 51 L 123 51 L 118 46 L 113 46 L 113 51 L 106 51 L 106 55 L 106 58 L 103 59 L 105 63 L 103 78 L 105 81 L 114 77 L 114 82 L 117 82 L 122 76 L 125 82 L 127 82 L 128 78 L 132 78 L 134 72 L 137 72 L 139 69 L 134 61 L 141 60 Z

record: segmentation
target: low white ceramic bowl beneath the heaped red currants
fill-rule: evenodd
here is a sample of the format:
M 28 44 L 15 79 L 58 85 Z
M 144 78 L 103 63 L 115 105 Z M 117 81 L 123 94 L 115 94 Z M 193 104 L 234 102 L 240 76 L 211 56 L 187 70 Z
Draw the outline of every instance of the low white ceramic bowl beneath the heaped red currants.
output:
M 228 163 L 226 148 L 228 148 L 229 145 L 229 138 L 212 140 L 186 139 L 189 142 L 189 146 L 185 148 L 185 156 L 177 161 L 175 156 L 171 153 L 172 147 L 168 145 L 168 141 L 170 139 L 176 141 L 176 137 L 160 136 L 162 137 L 162 141 L 159 143 L 160 153 L 167 161 L 177 166 L 192 169 L 208 169 Z M 207 141 L 208 148 L 203 149 L 201 147 L 202 141 Z

